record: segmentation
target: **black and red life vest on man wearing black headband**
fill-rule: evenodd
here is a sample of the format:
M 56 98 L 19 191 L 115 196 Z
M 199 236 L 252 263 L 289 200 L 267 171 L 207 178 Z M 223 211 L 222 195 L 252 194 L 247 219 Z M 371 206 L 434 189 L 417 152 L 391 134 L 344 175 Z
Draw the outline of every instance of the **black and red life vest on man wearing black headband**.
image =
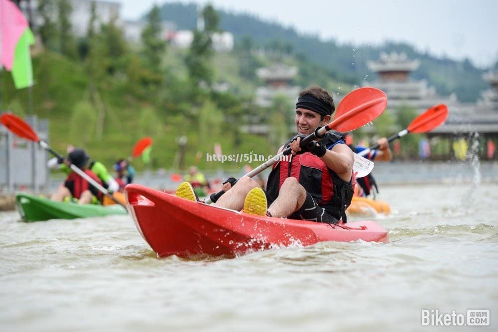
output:
M 293 138 L 292 138 L 293 139 Z M 285 143 L 288 147 L 290 139 Z M 325 147 L 341 140 L 341 137 L 328 133 L 320 141 Z M 288 177 L 296 178 L 304 189 L 325 211 L 337 220 L 346 222 L 346 209 L 353 198 L 355 177 L 350 182 L 342 180 L 317 156 L 310 152 L 289 156 L 289 160 L 277 162 L 268 176 L 267 192 L 272 198 L 278 196 L 280 187 Z

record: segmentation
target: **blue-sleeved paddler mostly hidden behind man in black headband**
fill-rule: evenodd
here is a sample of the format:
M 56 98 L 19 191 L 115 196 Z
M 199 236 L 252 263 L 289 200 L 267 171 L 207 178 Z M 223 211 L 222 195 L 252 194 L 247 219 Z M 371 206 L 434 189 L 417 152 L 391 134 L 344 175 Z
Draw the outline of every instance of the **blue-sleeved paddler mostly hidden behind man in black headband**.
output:
M 337 132 L 336 132 L 337 133 Z M 353 134 L 347 133 L 338 133 L 341 136 L 343 136 L 346 140 L 346 144 L 351 148 L 351 150 L 355 153 L 360 153 L 368 147 L 363 146 L 363 145 L 354 145 L 353 144 Z M 374 150 L 370 150 L 366 155 L 363 157 L 372 160 L 372 161 L 390 161 L 392 159 L 392 152 L 391 149 L 389 148 L 389 141 L 387 140 L 386 137 L 381 137 L 377 139 L 377 144 L 379 147 Z M 370 194 L 375 195 L 378 193 L 378 186 L 377 183 L 375 182 L 375 179 L 373 178 L 372 173 L 367 175 L 366 177 L 356 179 L 358 186 L 355 187 L 355 196 L 360 196 L 360 197 L 367 197 Z M 373 191 L 373 189 L 375 191 Z

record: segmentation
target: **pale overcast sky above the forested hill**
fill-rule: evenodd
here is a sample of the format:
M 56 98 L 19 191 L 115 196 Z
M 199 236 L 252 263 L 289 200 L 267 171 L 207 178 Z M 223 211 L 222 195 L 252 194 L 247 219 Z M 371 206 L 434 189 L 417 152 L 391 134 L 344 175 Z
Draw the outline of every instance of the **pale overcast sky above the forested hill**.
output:
M 164 0 L 117 0 L 125 19 L 135 19 Z M 497 0 L 181 0 L 211 2 L 216 9 L 255 14 L 354 44 L 405 41 L 419 50 L 469 57 L 480 67 L 498 60 Z

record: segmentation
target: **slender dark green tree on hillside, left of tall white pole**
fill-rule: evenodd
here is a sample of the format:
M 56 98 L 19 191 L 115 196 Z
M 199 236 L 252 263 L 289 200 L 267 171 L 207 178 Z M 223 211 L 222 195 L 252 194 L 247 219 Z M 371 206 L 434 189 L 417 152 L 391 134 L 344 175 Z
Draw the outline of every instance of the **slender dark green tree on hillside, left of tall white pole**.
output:
M 162 36 L 161 12 L 154 5 L 147 14 L 147 24 L 141 33 L 143 56 L 147 64 L 155 71 L 161 68 L 161 59 L 166 51 L 166 42 Z

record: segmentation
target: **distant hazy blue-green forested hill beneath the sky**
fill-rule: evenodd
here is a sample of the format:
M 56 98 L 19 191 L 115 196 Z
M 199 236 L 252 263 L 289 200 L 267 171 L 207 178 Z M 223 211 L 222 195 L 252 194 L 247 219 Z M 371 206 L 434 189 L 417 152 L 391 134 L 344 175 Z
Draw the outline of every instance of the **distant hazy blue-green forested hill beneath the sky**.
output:
M 215 8 L 217 9 L 217 8 Z M 334 40 L 321 41 L 317 36 L 298 33 L 295 29 L 275 22 L 264 21 L 245 13 L 218 10 L 220 26 L 235 36 L 236 44 L 250 37 L 256 47 L 281 49 L 305 56 L 336 75 L 335 79 L 351 84 L 372 80 L 375 74 L 367 67 L 368 60 L 377 60 L 381 52 L 405 52 L 410 59 L 420 59 L 420 67 L 412 73 L 413 79 L 427 79 L 438 94 L 456 93 L 462 102 L 475 102 L 479 93 L 489 88 L 482 78 L 484 70 L 469 60 L 455 61 L 437 58 L 417 51 L 406 43 L 386 42 L 380 46 L 339 44 Z M 161 6 L 164 20 L 172 21 L 178 29 L 196 27 L 196 4 L 165 3 Z M 491 42 L 491 41 L 490 41 Z

